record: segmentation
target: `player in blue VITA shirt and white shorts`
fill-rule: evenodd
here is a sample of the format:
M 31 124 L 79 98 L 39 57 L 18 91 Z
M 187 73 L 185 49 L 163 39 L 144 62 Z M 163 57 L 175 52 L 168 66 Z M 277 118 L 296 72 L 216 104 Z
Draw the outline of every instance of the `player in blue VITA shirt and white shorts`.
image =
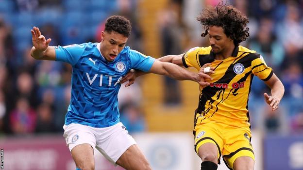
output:
M 37 27 L 31 32 L 34 45 L 31 55 L 35 59 L 72 65 L 71 99 L 63 128 L 77 170 L 95 169 L 93 148 L 126 170 L 151 170 L 135 140 L 119 122 L 119 82 L 131 69 L 201 85 L 205 83 L 203 77 L 210 78 L 172 63 L 156 61 L 125 46 L 131 24 L 123 16 L 107 18 L 101 43 L 49 46 L 51 39 L 46 40 Z

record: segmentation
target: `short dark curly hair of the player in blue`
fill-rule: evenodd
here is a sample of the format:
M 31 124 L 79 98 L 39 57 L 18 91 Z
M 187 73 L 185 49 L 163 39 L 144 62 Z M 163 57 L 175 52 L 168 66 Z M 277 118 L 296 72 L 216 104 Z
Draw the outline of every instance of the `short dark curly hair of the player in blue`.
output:
M 106 19 L 105 30 L 107 32 L 118 32 L 119 34 L 129 37 L 131 34 L 132 26 L 128 19 L 124 16 L 113 15 Z

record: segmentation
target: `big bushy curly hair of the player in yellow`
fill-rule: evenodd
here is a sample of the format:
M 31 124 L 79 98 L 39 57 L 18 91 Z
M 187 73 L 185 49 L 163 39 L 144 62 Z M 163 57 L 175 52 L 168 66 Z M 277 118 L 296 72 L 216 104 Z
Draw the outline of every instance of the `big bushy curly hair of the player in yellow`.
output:
M 201 34 L 202 37 L 208 34 L 210 26 L 222 27 L 226 36 L 234 40 L 235 46 L 239 46 L 239 43 L 249 37 L 249 28 L 246 27 L 248 17 L 241 14 L 235 7 L 223 4 L 223 1 L 216 7 L 203 9 L 197 16 L 197 20 L 205 29 L 205 32 Z

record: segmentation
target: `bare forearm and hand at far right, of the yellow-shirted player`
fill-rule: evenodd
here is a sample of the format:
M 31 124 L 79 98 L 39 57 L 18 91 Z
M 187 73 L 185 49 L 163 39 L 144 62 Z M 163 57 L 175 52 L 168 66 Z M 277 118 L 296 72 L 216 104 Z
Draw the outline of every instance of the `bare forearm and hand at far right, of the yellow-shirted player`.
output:
M 271 89 L 271 96 L 264 93 L 265 101 L 270 105 L 272 110 L 276 110 L 279 108 L 279 103 L 284 95 L 284 86 L 275 74 L 265 81 L 265 84 Z

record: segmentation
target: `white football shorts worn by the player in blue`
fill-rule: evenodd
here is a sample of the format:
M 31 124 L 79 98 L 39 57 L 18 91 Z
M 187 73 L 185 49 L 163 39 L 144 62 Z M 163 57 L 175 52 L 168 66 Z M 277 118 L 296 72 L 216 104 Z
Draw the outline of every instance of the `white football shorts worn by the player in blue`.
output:
M 114 165 L 130 146 L 136 144 L 122 123 L 102 128 L 68 124 L 64 125 L 63 129 L 69 151 L 77 145 L 88 143 Z

